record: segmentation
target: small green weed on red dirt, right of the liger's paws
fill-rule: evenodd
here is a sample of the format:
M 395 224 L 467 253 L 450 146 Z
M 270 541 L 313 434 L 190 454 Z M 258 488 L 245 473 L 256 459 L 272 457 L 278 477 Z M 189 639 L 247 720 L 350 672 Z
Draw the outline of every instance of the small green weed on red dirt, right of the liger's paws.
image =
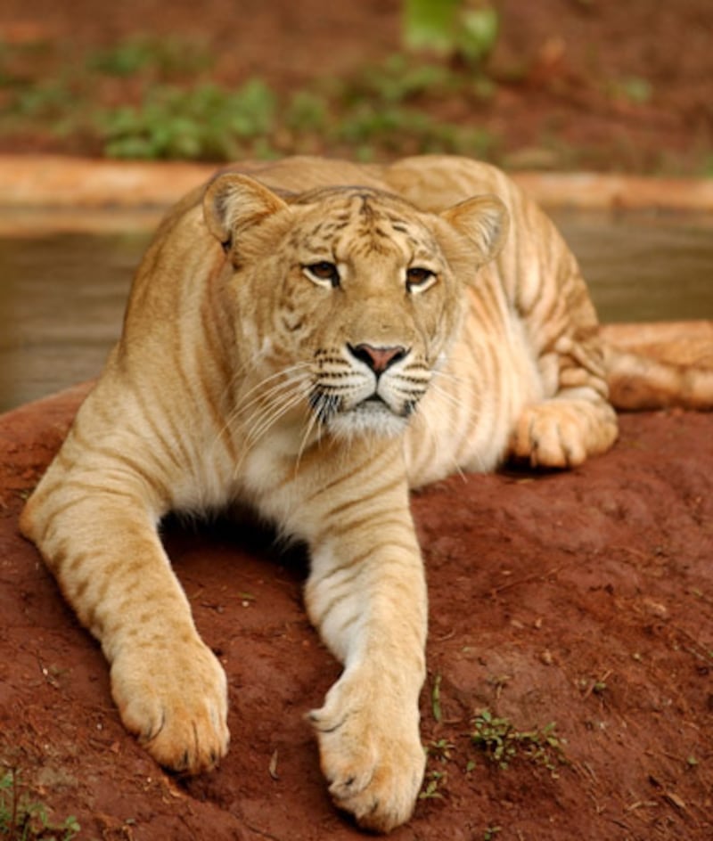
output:
M 507 718 L 497 717 L 488 709 L 481 710 L 472 722 L 471 742 L 499 768 L 507 768 L 516 757 L 522 756 L 543 765 L 556 777 L 558 765 L 567 762 L 554 722 L 519 731 Z

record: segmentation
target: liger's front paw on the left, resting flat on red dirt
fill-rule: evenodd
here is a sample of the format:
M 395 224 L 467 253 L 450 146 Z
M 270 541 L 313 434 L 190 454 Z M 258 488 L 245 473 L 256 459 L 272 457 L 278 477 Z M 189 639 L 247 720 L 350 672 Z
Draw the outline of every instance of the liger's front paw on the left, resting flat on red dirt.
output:
M 225 755 L 225 672 L 197 637 L 170 649 L 122 651 L 111 665 L 111 693 L 124 726 L 164 767 L 200 773 Z

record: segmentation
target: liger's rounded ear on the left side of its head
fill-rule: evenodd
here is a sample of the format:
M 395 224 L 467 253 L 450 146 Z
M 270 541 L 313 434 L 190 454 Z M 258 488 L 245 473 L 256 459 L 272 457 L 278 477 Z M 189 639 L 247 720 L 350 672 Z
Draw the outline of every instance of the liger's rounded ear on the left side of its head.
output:
M 226 251 L 241 231 L 286 207 L 274 192 L 238 173 L 216 176 L 203 195 L 206 225 Z

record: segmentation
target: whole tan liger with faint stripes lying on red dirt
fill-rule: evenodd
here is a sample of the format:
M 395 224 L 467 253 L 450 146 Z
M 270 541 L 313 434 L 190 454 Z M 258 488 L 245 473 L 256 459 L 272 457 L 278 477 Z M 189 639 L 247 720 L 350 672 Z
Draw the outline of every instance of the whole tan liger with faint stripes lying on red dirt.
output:
M 307 611 L 344 664 L 311 714 L 324 774 L 386 831 L 424 766 L 408 487 L 509 453 L 604 452 L 607 362 L 574 257 L 493 167 L 288 159 L 252 176 L 218 176 L 160 226 L 21 527 L 102 642 L 127 729 L 187 772 L 227 749 L 225 675 L 160 518 L 240 500 L 305 540 Z

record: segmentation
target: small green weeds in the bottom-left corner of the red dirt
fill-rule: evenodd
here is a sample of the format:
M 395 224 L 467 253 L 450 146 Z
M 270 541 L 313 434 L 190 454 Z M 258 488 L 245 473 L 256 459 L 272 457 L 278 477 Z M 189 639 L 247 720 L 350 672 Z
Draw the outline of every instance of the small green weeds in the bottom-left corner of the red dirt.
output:
M 0 777 L 0 837 L 6 841 L 70 841 L 78 831 L 73 815 L 55 824 L 49 820 L 44 804 L 29 801 L 14 768 Z

